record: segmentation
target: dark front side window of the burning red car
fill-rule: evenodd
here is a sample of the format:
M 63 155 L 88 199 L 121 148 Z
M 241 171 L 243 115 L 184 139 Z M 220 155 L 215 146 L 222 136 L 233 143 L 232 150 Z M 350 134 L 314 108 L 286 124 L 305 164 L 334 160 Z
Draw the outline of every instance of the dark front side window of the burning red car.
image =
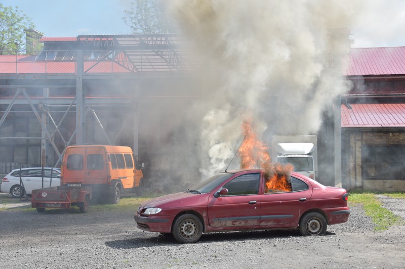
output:
M 259 193 L 260 174 L 245 174 L 232 179 L 223 188 L 228 189 L 229 195 L 252 195 Z

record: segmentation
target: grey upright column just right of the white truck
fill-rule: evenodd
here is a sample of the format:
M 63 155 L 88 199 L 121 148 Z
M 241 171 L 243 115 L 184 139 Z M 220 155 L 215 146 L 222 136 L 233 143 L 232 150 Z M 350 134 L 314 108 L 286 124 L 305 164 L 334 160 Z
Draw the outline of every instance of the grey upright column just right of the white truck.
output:
M 341 98 L 335 101 L 335 186 L 342 187 L 342 127 L 341 127 Z

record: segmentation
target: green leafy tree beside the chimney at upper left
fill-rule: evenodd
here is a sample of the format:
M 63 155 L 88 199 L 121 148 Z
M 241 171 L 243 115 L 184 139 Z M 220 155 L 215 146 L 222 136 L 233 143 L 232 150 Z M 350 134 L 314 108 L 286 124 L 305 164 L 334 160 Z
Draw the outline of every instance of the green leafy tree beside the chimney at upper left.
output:
M 0 55 L 16 54 L 25 49 L 24 29 L 34 24 L 17 6 L 5 7 L 0 3 Z

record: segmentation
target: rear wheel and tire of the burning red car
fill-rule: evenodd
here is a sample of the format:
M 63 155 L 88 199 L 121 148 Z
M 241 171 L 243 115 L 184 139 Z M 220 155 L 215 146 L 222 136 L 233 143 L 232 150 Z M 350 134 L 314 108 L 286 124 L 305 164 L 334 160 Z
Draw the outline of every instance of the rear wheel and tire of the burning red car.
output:
M 300 220 L 300 232 L 303 236 L 325 235 L 327 222 L 318 212 L 306 213 Z

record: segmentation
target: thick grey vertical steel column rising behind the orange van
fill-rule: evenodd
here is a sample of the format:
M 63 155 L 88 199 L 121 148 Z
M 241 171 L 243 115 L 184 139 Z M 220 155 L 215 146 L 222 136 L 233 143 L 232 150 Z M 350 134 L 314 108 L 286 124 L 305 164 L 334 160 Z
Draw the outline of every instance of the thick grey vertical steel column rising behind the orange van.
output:
M 83 90 L 83 50 L 76 50 L 76 145 L 86 144 L 86 93 Z

